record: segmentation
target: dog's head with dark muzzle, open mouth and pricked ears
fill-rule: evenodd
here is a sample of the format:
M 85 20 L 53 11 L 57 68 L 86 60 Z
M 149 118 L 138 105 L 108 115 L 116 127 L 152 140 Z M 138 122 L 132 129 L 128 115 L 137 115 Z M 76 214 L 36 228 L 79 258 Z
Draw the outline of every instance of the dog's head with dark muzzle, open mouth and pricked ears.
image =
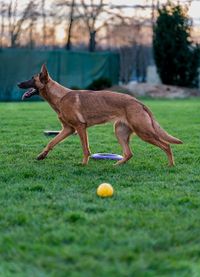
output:
M 23 96 L 22 100 L 25 98 L 30 98 L 33 95 L 40 95 L 40 91 L 45 88 L 50 80 L 48 70 L 45 64 L 42 65 L 39 74 L 34 75 L 30 80 L 24 81 L 18 84 L 19 88 L 28 89 Z

